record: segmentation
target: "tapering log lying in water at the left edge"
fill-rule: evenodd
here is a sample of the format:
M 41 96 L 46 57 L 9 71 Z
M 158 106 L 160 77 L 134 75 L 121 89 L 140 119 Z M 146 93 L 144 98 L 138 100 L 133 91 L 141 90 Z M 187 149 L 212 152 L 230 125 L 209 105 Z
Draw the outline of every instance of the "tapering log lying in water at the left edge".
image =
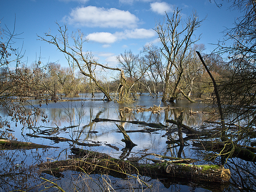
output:
M 0 139 L 0 149 L 35 149 L 35 148 L 58 148 L 48 145 L 40 145 L 31 142 Z

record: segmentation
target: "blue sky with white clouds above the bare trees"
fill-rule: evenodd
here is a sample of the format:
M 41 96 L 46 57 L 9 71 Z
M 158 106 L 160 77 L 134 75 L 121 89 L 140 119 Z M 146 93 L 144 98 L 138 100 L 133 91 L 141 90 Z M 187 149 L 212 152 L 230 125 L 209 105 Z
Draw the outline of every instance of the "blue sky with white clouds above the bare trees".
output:
M 32 64 L 56 62 L 68 66 L 64 54 L 54 45 L 38 40 L 44 33 L 58 34 L 58 26 L 66 25 L 68 34 L 81 30 L 88 38 L 83 45 L 84 52 L 91 51 L 101 64 L 117 66 L 116 56 L 131 50 L 139 54 L 143 46 L 153 43 L 160 47 L 154 31 L 162 23 L 165 12 L 171 16 L 181 9 L 186 20 L 196 11 L 200 20 L 205 19 L 195 31 L 201 34 L 196 43 L 203 43 L 205 53 L 211 53 L 222 40 L 223 31 L 233 26 L 239 17 L 237 10 L 230 10 L 226 0 L 216 6 L 209 0 L 2 0 L 0 3 L 0 27 L 21 33 L 14 47 L 25 52 L 22 61 Z M 6 27 L 5 27 L 6 26 Z

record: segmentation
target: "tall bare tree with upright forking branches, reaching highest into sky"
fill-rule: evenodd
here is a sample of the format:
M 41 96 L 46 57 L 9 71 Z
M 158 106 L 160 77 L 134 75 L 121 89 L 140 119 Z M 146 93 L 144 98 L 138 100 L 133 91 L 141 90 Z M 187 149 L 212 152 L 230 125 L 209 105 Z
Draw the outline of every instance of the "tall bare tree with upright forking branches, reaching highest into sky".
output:
M 198 38 L 192 38 L 194 31 L 201 25 L 203 20 L 199 20 L 194 12 L 182 26 L 180 10 L 173 12 L 172 17 L 166 13 L 166 23 L 158 24 L 155 31 L 159 35 L 162 48 L 160 51 L 166 59 L 164 68 L 164 89 L 162 101 L 174 100 L 177 98 L 178 86 L 184 72 L 184 60 L 187 51 Z M 179 31 L 180 30 L 180 31 Z M 176 74 L 175 74 L 176 72 Z M 171 87 L 171 80 L 175 78 Z M 170 90 L 172 88 L 172 90 Z

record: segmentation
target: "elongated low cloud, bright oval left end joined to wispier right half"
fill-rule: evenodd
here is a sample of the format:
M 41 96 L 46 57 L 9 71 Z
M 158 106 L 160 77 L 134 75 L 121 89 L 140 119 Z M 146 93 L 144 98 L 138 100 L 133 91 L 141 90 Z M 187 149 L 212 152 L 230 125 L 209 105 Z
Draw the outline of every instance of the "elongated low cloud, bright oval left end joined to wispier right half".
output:
M 89 41 L 95 41 L 102 44 L 111 44 L 122 39 L 143 39 L 154 36 L 156 36 L 156 32 L 154 30 L 134 29 L 126 30 L 124 32 L 115 32 L 114 34 L 109 32 L 94 32 L 87 35 L 87 38 Z

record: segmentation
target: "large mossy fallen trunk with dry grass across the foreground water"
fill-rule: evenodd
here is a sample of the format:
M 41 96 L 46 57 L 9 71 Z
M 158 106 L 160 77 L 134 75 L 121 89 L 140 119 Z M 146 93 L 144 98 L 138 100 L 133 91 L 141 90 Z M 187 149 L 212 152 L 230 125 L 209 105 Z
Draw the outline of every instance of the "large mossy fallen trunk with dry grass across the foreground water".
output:
M 64 170 L 85 171 L 87 174 L 109 174 L 126 178 L 132 174 L 151 178 L 181 178 L 193 183 L 226 183 L 230 179 L 229 169 L 218 165 L 174 164 L 167 161 L 141 164 L 137 161 L 119 160 L 107 154 L 72 148 L 71 151 L 81 158 L 59 160 L 39 164 L 41 171 L 61 172 Z

